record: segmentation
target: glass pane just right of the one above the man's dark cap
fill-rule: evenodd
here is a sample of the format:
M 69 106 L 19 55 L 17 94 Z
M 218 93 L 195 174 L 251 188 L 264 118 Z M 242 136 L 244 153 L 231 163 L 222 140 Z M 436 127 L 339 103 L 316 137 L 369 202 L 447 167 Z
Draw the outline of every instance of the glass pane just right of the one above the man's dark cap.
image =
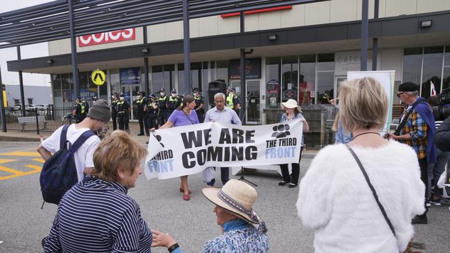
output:
M 431 82 L 435 86 L 436 93 L 440 91 L 440 77 L 442 73 L 442 57 L 444 47 L 434 46 L 424 48 L 424 70 L 422 74 L 422 97 L 431 95 Z

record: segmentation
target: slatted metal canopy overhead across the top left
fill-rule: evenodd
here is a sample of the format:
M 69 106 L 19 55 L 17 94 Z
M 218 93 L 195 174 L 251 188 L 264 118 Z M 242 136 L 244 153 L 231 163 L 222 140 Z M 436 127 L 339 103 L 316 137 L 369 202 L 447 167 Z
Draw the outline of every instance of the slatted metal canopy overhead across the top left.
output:
M 325 0 L 191 0 L 188 17 L 199 18 Z M 72 0 L 75 36 L 183 20 L 183 0 Z M 69 2 L 0 13 L 0 48 L 69 38 Z

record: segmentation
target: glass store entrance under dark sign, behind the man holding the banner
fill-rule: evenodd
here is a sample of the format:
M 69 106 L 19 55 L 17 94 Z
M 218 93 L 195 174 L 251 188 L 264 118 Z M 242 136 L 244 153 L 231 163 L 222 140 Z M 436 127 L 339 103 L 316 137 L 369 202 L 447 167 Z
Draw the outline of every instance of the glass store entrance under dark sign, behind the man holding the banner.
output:
M 248 79 L 246 80 L 246 97 L 242 95 L 240 88 L 240 80 L 231 80 L 231 88 L 235 88 L 236 95 L 240 97 L 240 100 L 246 98 L 247 124 L 261 124 L 261 100 L 260 100 L 260 79 Z M 242 110 L 244 108 L 242 107 Z

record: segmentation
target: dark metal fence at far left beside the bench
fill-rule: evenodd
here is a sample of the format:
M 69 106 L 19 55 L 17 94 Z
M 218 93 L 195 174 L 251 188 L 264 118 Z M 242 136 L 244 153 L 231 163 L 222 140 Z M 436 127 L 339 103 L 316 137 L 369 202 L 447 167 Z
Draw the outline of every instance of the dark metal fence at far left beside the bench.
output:
M 21 105 L 5 108 L 6 131 L 53 133 L 63 124 L 72 123 L 72 107 Z

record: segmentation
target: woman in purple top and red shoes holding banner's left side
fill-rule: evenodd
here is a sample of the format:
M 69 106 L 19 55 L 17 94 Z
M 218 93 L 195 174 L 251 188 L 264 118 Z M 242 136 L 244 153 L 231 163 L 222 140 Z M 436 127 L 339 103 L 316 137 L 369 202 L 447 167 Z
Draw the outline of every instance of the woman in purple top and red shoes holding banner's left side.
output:
M 195 98 L 192 95 L 186 95 L 181 105 L 173 111 L 169 119 L 159 129 L 168 129 L 170 127 L 188 126 L 190 124 L 199 124 L 199 118 L 195 108 Z M 151 131 L 156 129 L 152 128 Z M 190 190 L 188 188 L 188 176 L 181 176 L 180 191 L 184 193 L 183 200 L 190 200 Z

